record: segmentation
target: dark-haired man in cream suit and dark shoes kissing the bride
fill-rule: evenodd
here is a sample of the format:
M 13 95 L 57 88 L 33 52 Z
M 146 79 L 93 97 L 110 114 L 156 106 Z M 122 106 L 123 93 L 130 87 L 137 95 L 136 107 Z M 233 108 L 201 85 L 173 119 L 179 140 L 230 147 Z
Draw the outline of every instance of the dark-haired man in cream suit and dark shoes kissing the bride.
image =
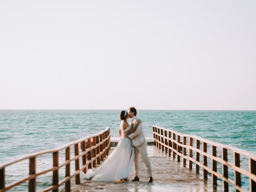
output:
M 130 118 L 132 118 L 132 121 L 130 125 L 135 125 L 137 123 L 138 118 L 136 117 L 137 111 L 134 107 L 129 108 L 128 115 Z M 134 158 L 134 180 L 132 181 L 139 181 L 140 178 L 138 177 L 138 171 L 139 171 L 139 157 L 141 156 L 143 162 L 146 164 L 147 172 L 149 176 L 149 183 L 153 182 L 152 178 L 152 171 L 151 171 L 151 164 L 148 158 L 147 153 L 147 141 L 144 136 L 143 130 L 142 130 L 142 124 L 140 123 L 138 128 L 135 130 L 135 132 L 131 134 L 126 134 L 125 137 L 129 137 L 132 140 L 132 144 L 134 145 L 135 150 L 135 158 Z

